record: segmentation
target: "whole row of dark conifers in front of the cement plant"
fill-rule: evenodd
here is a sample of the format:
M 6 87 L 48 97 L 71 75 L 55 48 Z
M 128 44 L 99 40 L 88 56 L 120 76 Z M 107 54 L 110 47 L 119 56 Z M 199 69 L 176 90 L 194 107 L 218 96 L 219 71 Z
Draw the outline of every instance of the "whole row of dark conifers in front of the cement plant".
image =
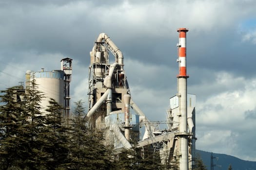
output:
M 152 146 L 138 149 L 136 137 L 131 137 L 133 148 L 114 156 L 113 146 L 103 143 L 103 133 L 88 128 L 81 101 L 75 102 L 74 117 L 65 127 L 62 107 L 50 99 L 43 111 L 43 94 L 35 81 L 30 87 L 25 102 L 14 100 L 19 87 L 1 91 L 0 170 L 164 169 L 159 153 Z

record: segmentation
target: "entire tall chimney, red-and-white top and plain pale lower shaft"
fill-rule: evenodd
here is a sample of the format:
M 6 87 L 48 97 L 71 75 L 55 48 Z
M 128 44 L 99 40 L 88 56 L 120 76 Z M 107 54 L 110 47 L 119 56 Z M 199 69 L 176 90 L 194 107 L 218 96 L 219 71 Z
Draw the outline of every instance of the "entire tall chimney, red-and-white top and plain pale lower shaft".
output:
M 178 63 L 179 74 L 178 79 L 178 96 L 179 96 L 179 111 L 181 114 L 179 122 L 180 135 L 180 170 L 188 170 L 188 133 L 187 133 L 187 72 L 186 72 L 186 28 L 177 30 L 179 33 L 178 47 Z

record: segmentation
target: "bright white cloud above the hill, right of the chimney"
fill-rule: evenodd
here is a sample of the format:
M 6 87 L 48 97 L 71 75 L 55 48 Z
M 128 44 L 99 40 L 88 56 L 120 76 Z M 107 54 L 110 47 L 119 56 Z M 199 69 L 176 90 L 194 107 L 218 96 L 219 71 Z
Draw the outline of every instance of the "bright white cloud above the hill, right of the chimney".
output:
M 216 89 L 225 89 L 217 93 L 212 91 L 206 100 L 200 100 L 197 94 L 197 148 L 243 159 L 251 155 L 250 160 L 256 160 L 251 151 L 246 150 L 247 146 L 242 145 L 255 138 L 252 136 L 255 119 L 246 119 L 246 113 L 248 116 L 255 109 L 256 78 L 235 77 L 227 72 L 219 72 L 215 78 L 214 82 L 197 86 L 207 90 L 214 83 Z M 226 90 L 227 87 L 231 88 Z

